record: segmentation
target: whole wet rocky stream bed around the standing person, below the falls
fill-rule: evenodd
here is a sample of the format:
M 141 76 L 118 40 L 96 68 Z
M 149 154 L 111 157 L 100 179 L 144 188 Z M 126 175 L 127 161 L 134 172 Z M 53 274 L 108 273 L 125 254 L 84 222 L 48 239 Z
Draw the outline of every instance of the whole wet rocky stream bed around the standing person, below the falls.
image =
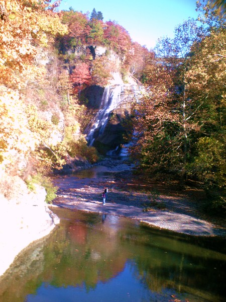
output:
M 54 179 L 58 186 L 53 205 L 125 216 L 157 228 L 195 236 L 225 236 L 225 228 L 204 220 L 198 203 L 185 196 L 152 194 L 153 188 L 137 183 L 134 165 L 126 158 L 105 158 L 91 169 Z M 101 194 L 107 186 L 106 204 Z

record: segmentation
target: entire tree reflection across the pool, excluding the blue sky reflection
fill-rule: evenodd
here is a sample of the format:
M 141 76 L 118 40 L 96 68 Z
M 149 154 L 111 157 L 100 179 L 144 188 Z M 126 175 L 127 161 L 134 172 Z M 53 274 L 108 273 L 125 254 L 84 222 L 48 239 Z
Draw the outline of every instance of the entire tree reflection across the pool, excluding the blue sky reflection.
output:
M 24 301 L 26 294 L 35 293 L 42 282 L 90 290 L 98 282 L 116 277 L 126 263 L 153 292 L 174 288 L 195 293 L 200 299 L 223 296 L 222 253 L 185 239 L 175 240 L 163 232 L 138 228 L 126 219 L 109 221 L 102 223 L 96 214 L 77 213 L 74 218 L 66 215 L 47 244 L 43 242 L 23 255 L 17 269 L 6 276 L 0 284 L 0 302 L 12 302 L 15 297 L 18 302 Z

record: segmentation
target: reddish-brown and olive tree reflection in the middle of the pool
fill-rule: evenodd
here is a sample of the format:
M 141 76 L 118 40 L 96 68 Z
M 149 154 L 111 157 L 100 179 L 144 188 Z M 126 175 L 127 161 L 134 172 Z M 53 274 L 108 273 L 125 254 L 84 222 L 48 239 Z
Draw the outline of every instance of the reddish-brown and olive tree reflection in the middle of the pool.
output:
M 117 233 L 105 225 L 92 232 L 90 225 L 69 223 L 58 230 L 57 239 L 49 243 L 45 252 L 45 271 L 56 267 L 46 281 L 55 286 L 95 288 L 98 282 L 106 282 L 123 271 L 129 257 L 118 248 Z

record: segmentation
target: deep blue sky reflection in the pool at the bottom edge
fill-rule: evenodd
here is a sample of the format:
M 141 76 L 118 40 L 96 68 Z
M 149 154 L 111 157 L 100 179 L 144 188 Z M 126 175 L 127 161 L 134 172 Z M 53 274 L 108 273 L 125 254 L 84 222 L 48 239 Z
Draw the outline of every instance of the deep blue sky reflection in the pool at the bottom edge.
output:
M 173 290 L 167 290 L 165 293 L 164 290 L 161 293 L 150 291 L 144 287 L 142 279 L 134 278 L 137 273 L 135 263 L 128 261 L 118 276 L 106 282 L 98 282 L 93 289 L 87 290 L 84 286 L 57 288 L 43 283 L 37 295 L 28 295 L 26 302 L 168 302 L 170 294 L 175 293 Z

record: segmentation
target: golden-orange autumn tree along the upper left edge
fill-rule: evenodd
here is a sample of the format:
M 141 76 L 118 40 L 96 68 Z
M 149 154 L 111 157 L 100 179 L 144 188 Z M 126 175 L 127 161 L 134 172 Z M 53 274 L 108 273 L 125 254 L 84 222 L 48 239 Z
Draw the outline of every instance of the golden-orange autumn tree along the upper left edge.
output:
M 3 169 L 16 159 L 24 162 L 43 140 L 29 128 L 29 116 L 23 102 L 29 83 L 41 81 L 44 68 L 37 53 L 47 47 L 56 33 L 64 34 L 60 14 L 51 1 L 2 0 L 0 3 L 0 157 Z M 21 168 L 20 168 L 21 169 Z M 18 169 L 17 173 L 20 173 Z M 7 170 L 6 170 L 7 171 Z

